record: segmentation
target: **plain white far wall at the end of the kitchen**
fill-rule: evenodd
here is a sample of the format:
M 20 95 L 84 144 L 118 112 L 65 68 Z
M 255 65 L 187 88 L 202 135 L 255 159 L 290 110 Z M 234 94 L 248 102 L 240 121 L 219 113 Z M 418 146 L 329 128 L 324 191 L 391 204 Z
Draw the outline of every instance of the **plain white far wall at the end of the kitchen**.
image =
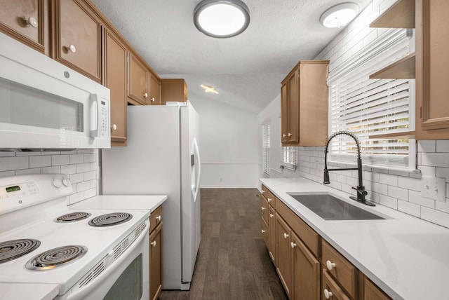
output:
M 201 187 L 257 186 L 257 114 L 194 95 L 199 114 Z

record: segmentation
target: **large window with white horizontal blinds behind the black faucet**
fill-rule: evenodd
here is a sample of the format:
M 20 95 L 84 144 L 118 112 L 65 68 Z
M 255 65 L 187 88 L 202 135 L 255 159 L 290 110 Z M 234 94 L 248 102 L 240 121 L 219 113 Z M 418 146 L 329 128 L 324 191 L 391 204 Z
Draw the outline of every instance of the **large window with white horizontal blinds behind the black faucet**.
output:
M 408 55 L 408 33 L 391 29 L 382 36 L 382 43 L 368 47 L 346 70 L 330 74 L 330 133 L 353 132 L 361 142 L 363 165 L 403 169 L 414 161 L 414 155 L 409 156 L 415 149 L 414 139 L 379 136 L 414 130 L 414 80 L 369 79 L 370 74 Z M 345 135 L 335 137 L 329 146 L 330 161 L 354 162 L 355 153 L 356 143 Z

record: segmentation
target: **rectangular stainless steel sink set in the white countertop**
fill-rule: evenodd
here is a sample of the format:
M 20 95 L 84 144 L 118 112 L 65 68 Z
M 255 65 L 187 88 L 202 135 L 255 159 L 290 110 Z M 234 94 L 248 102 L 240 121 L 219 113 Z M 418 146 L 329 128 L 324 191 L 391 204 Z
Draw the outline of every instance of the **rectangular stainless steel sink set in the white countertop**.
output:
M 325 220 L 385 219 L 328 194 L 288 194 Z

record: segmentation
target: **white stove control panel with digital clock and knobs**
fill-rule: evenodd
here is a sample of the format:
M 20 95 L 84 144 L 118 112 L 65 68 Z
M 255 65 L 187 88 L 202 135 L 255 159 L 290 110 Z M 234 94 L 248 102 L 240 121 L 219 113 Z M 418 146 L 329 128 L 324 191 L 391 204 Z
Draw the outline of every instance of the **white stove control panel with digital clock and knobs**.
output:
M 62 198 L 72 192 L 69 177 L 63 174 L 0 177 L 0 214 Z

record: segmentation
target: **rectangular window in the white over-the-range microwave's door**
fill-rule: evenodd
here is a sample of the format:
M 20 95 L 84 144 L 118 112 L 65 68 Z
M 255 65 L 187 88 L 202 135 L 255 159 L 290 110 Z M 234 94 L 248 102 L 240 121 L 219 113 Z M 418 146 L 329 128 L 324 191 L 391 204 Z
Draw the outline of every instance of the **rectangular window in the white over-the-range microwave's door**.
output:
M 0 122 L 83 131 L 83 104 L 0 78 Z

